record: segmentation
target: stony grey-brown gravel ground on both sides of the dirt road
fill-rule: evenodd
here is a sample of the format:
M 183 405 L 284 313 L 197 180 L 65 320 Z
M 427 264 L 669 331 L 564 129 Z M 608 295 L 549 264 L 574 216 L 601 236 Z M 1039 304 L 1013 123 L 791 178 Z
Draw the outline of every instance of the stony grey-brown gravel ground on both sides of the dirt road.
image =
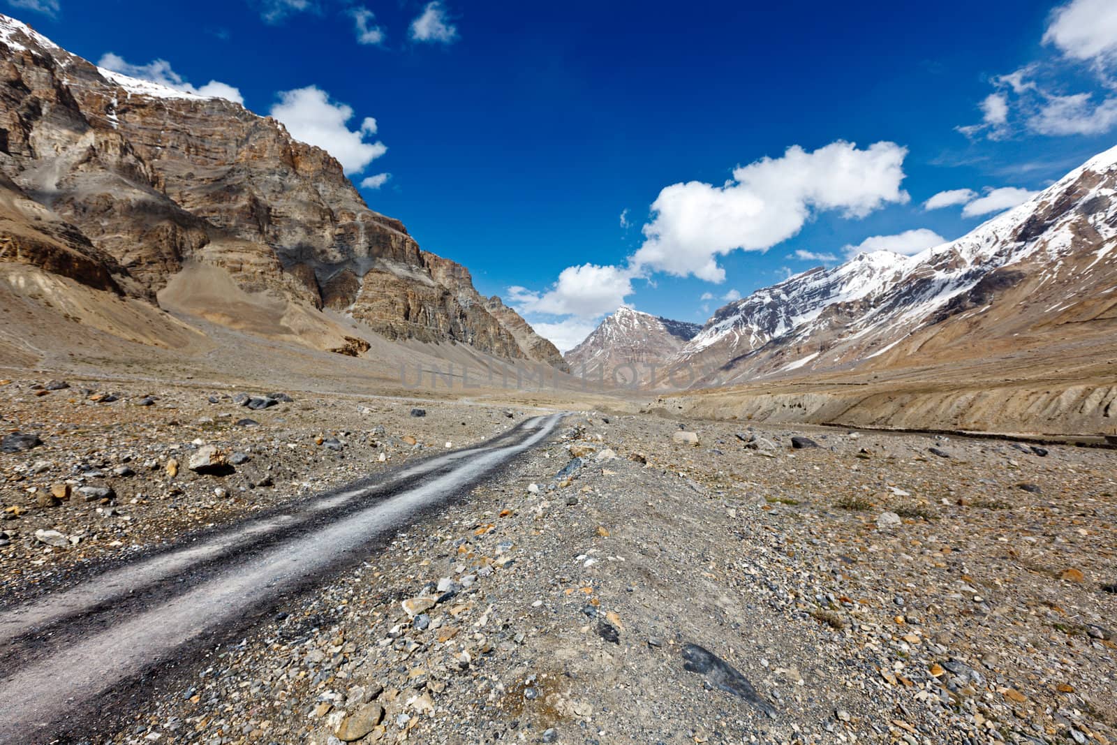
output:
M 16 532 L 6 599 L 398 462 L 411 446 L 391 438 L 466 445 L 522 416 L 295 392 L 249 413 L 189 389 L 132 403 L 143 393 L 0 388 L 4 428 L 46 442 L 0 456 L 4 507 L 26 510 L 0 524 Z M 169 421 L 201 416 L 260 427 Z M 599 413 L 562 431 L 89 742 L 1117 742 L 1114 451 Z M 239 468 L 170 479 L 194 439 L 259 448 L 276 486 L 261 496 Z M 79 480 L 78 460 L 157 461 L 105 480 L 131 520 L 76 496 L 38 506 L 28 489 Z M 48 525 L 80 542 L 35 541 Z

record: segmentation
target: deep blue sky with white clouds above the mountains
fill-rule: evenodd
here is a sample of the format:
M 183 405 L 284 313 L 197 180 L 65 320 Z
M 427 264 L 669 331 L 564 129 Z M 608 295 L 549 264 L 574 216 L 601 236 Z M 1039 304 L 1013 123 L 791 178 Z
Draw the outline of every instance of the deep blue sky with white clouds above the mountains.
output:
M 275 111 L 562 346 L 622 302 L 703 322 L 849 247 L 956 238 L 1117 133 L 1111 0 L 3 1 Z

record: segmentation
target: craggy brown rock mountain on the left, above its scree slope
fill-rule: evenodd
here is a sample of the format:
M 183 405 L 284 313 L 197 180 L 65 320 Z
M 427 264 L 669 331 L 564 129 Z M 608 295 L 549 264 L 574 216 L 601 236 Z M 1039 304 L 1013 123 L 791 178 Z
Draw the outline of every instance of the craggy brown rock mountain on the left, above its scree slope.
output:
M 0 267 L 248 327 L 254 314 L 200 299 L 228 276 L 240 300 L 270 308 L 261 316 L 279 308 L 283 333 L 318 348 L 344 343 L 342 319 L 562 364 L 513 311 L 491 313 L 465 267 L 420 250 L 279 122 L 97 68 L 6 16 L 0 229 Z

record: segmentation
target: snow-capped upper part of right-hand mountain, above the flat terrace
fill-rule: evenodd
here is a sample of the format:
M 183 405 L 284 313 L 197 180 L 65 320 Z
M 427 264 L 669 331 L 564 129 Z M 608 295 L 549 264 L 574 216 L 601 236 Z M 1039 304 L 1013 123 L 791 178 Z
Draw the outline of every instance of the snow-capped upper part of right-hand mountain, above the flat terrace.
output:
M 731 303 L 676 362 L 705 370 L 701 383 L 733 383 L 987 354 L 1072 319 L 1085 324 L 1075 334 L 1111 333 L 1115 249 L 1117 147 L 957 240 L 861 254 Z

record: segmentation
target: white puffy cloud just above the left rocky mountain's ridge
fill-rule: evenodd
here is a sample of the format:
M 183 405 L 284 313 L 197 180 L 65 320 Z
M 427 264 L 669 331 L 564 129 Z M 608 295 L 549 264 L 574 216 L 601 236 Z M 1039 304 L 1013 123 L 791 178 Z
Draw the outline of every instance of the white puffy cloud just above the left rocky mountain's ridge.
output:
M 359 173 L 388 147 L 382 142 L 366 142 L 376 134 L 376 120 L 371 116 L 357 130 L 350 130 L 353 108 L 330 99 L 325 90 L 307 86 L 279 94 L 271 116 L 287 127 L 296 140 L 322 147 L 337 159 L 346 173 Z

